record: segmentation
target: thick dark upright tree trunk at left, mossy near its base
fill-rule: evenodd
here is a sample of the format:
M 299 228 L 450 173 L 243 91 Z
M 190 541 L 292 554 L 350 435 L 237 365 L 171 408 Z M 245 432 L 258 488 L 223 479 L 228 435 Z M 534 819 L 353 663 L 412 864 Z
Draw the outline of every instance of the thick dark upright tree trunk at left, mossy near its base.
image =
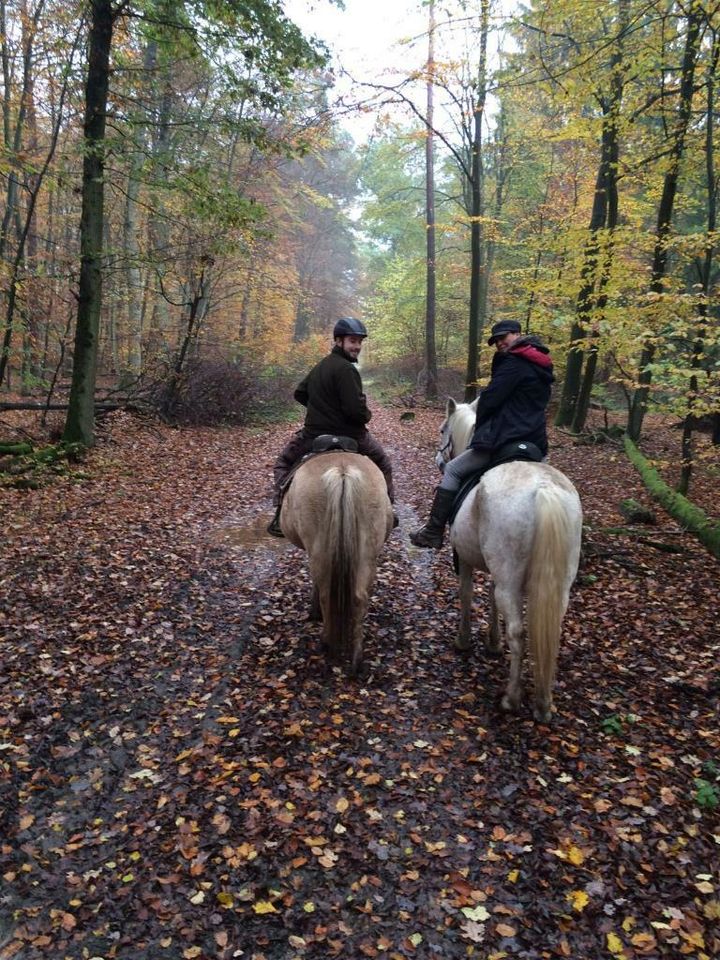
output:
M 113 9 L 92 0 L 83 125 L 84 159 L 80 219 L 80 283 L 70 407 L 63 439 L 86 447 L 95 442 L 95 380 L 102 307 L 105 121 L 110 78 Z

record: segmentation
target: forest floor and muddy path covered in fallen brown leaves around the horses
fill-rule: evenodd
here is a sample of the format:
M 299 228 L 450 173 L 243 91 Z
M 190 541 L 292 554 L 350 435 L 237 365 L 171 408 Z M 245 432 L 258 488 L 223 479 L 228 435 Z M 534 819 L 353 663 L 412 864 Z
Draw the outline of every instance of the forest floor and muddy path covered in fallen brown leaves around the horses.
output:
M 376 410 L 401 525 L 362 683 L 264 535 L 289 429 L 117 414 L 82 475 L 0 490 L 3 960 L 720 954 L 717 562 L 555 434 L 586 518 L 556 714 L 503 714 L 483 577 L 461 656 L 449 548 L 408 541 L 441 419 Z

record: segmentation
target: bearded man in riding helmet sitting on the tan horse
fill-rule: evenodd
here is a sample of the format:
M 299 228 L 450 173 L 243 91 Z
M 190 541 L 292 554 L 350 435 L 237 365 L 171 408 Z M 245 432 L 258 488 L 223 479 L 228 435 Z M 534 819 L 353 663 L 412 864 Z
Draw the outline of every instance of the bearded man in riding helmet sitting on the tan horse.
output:
M 295 390 L 295 399 L 307 407 L 307 413 L 304 426 L 293 434 L 275 461 L 273 505 L 276 510 L 267 528 L 274 537 L 283 536 L 280 529 L 283 483 L 297 461 L 310 452 L 315 437 L 324 433 L 355 440 L 358 453 L 370 457 L 382 471 L 390 502 L 395 501 L 390 458 L 365 426 L 372 413 L 365 400 L 356 364 L 367 335 L 361 320 L 341 317 L 333 328 L 332 350 L 312 368 Z

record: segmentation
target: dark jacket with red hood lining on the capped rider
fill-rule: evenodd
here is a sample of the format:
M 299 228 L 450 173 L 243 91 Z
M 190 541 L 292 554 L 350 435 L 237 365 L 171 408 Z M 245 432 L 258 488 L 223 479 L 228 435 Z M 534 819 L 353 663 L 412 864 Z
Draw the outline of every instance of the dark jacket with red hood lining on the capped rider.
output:
M 545 456 L 545 411 L 554 379 L 550 353 L 537 337 L 520 337 L 507 353 L 496 353 L 490 383 L 478 399 L 470 446 L 497 450 L 511 440 L 529 440 Z

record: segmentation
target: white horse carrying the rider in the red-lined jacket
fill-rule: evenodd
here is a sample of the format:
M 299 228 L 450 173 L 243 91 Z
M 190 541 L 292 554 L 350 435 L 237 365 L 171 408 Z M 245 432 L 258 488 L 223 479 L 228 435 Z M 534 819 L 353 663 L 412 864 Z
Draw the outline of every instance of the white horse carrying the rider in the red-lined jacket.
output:
M 444 466 L 468 446 L 474 403 L 448 399 L 436 461 Z M 577 574 L 582 508 L 568 478 L 547 463 L 514 461 L 493 467 L 461 506 L 450 528 L 460 579 L 459 650 L 470 647 L 473 569 L 490 574 L 490 650 L 502 646 L 499 617 L 510 648 L 510 679 L 502 706 L 517 710 L 522 699 L 523 601 L 535 679 L 535 719 L 552 712 L 560 629 Z

